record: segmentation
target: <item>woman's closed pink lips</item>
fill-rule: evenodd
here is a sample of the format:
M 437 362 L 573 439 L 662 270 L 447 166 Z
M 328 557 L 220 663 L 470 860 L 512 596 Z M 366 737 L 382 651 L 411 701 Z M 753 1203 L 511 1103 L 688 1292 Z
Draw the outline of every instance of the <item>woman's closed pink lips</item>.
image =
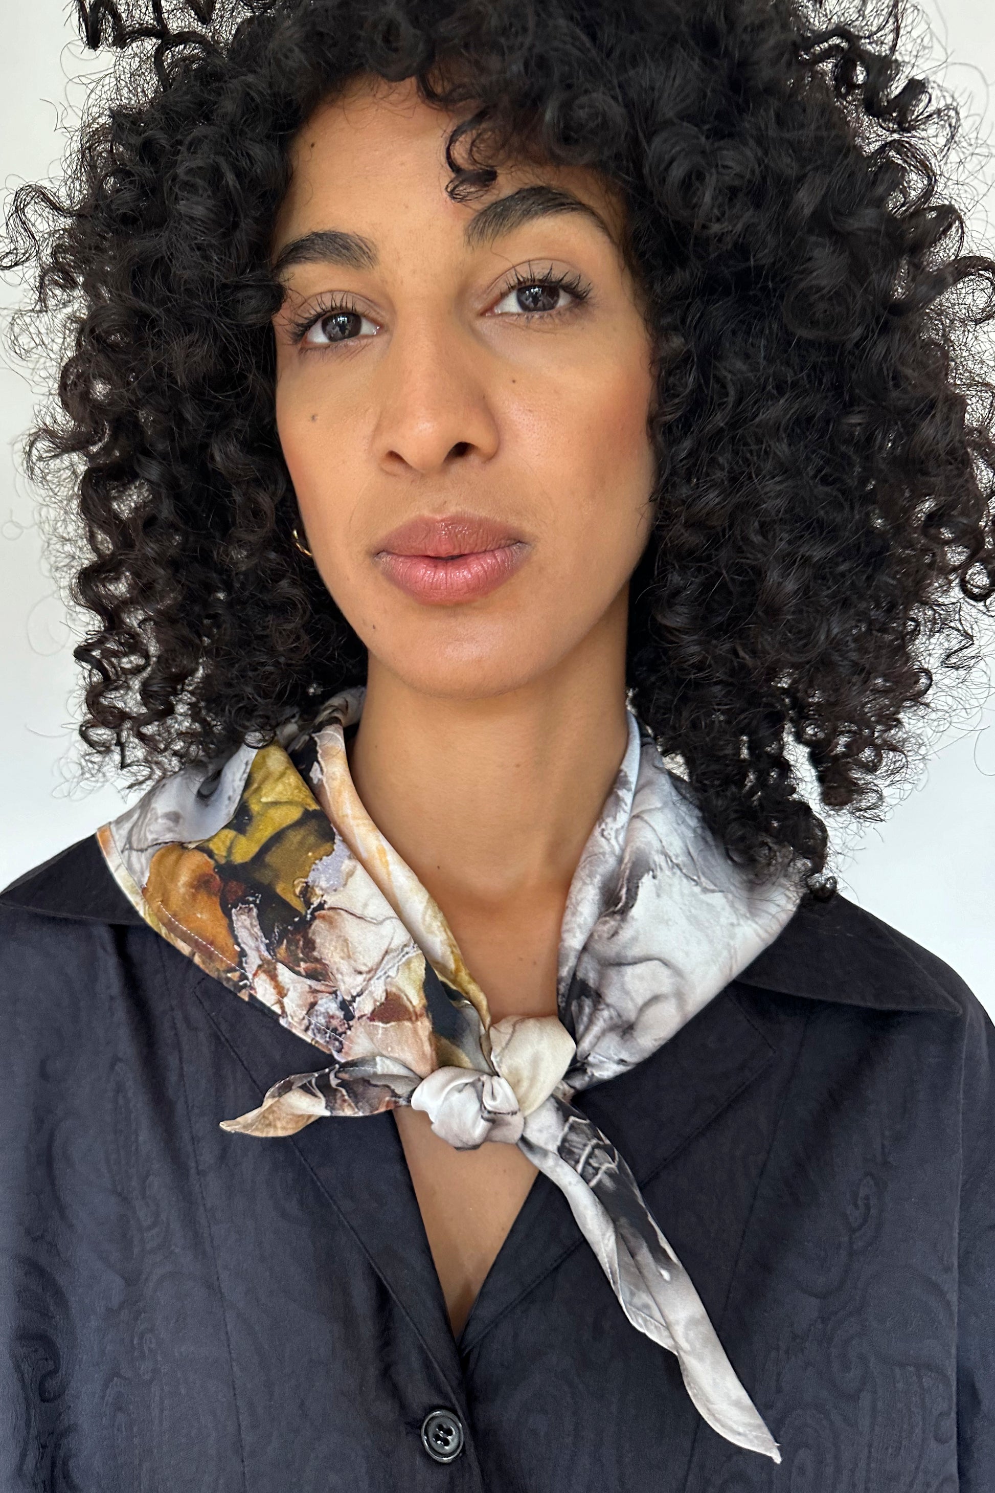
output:
M 388 581 L 416 602 L 455 606 L 476 602 L 503 585 L 530 546 L 507 527 L 473 514 L 412 518 L 374 551 Z

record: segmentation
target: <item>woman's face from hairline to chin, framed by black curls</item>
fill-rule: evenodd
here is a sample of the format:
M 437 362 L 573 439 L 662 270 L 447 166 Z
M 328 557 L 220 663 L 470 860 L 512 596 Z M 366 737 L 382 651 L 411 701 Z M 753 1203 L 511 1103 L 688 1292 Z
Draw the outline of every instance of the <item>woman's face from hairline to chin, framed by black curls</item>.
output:
M 606 629 L 624 648 L 652 367 L 609 190 L 512 166 L 453 203 L 452 125 L 412 85 L 358 84 L 300 133 L 273 243 L 276 417 L 371 673 L 479 699 Z

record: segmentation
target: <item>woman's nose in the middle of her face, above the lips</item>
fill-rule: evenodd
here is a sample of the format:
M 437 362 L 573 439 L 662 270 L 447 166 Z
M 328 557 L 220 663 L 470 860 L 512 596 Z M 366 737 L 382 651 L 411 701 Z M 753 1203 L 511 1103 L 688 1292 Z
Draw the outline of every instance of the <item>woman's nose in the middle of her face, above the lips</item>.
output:
M 374 442 L 382 467 L 425 476 L 497 452 L 485 358 L 458 325 L 434 318 L 394 330 L 376 390 Z

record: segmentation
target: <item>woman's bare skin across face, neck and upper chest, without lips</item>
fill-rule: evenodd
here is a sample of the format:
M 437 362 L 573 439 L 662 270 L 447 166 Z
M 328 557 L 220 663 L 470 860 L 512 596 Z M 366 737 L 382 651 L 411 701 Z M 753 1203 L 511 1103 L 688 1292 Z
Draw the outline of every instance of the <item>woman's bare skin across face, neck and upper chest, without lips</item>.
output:
M 273 240 L 276 415 L 298 532 L 368 648 L 357 788 L 500 1020 L 556 1011 L 570 879 L 625 749 L 653 375 L 607 187 L 516 163 L 453 203 L 452 125 L 410 84 L 358 81 L 301 130 Z M 382 540 L 453 514 L 513 530 L 524 558 L 488 596 L 425 603 Z M 459 1332 L 534 1169 L 395 1120 Z

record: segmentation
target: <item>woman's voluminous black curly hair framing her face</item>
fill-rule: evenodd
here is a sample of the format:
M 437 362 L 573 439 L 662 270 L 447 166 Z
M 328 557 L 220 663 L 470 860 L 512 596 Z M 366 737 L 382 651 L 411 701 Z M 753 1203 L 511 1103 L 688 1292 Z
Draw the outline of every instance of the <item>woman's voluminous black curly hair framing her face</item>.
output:
M 995 591 L 995 264 L 946 200 L 956 118 L 900 61 L 901 0 L 79 0 L 119 52 L 7 264 L 67 327 L 30 469 L 82 520 L 81 732 L 161 772 L 267 739 L 361 676 L 292 543 L 271 225 L 315 106 L 415 79 L 464 122 L 449 191 L 510 154 L 621 191 L 656 345 L 655 529 L 630 685 L 706 821 L 828 887 L 803 791 L 873 814 L 937 645 Z M 806 767 L 806 758 L 809 767 Z M 814 794 L 813 794 L 814 797 Z

